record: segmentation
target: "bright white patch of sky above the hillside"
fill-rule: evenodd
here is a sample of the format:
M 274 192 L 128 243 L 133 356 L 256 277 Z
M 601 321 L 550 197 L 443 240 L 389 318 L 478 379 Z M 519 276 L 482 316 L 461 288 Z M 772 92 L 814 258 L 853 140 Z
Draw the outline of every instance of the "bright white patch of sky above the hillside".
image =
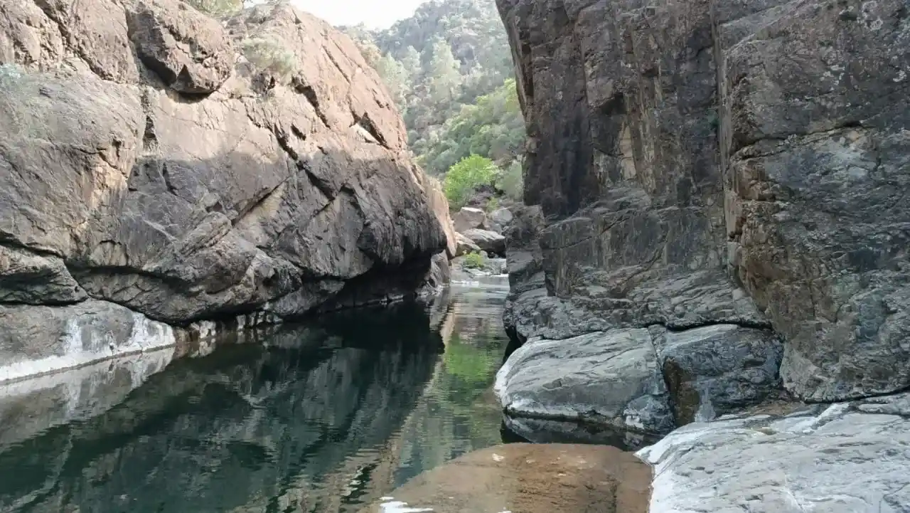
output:
M 331 25 L 388 28 L 414 14 L 426 0 L 292 0 L 294 5 L 328 21 Z

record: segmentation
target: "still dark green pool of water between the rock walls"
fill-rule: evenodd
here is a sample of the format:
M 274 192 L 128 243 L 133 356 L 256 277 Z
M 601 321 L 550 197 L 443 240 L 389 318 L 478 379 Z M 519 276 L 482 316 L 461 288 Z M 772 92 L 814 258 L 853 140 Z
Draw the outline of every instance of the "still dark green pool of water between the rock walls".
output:
M 0 511 L 358 511 L 501 442 L 506 292 L 0 387 Z

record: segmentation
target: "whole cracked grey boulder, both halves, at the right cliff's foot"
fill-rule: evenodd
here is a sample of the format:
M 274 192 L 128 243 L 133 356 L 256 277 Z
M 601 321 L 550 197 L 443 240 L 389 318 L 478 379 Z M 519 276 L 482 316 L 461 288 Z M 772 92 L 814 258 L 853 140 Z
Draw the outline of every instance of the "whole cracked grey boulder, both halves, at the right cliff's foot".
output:
M 776 398 L 782 352 L 774 333 L 734 324 L 532 338 L 502 365 L 495 391 L 513 417 L 664 434 Z

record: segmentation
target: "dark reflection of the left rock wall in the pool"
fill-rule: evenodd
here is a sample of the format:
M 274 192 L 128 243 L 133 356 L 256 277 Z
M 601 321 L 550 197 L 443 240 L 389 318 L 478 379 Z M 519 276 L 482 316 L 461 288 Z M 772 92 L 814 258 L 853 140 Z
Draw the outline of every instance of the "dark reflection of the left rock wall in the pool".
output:
M 122 401 L 101 394 L 109 405 L 59 414 L 35 435 L 5 425 L 0 467 L 16 472 L 0 480 L 0 508 L 344 510 L 360 501 L 358 480 L 378 486 L 398 467 L 396 435 L 440 361 L 439 333 L 428 326 L 415 305 L 329 316 L 315 328 L 282 328 L 268 347 L 174 362 Z M 114 374 L 112 383 L 126 379 Z M 40 388 L 66 399 L 48 395 L 38 411 L 80 405 L 74 389 L 104 383 Z M 16 407 L 0 405 L 0 415 L 15 417 Z M 81 420 L 65 424 L 73 419 Z

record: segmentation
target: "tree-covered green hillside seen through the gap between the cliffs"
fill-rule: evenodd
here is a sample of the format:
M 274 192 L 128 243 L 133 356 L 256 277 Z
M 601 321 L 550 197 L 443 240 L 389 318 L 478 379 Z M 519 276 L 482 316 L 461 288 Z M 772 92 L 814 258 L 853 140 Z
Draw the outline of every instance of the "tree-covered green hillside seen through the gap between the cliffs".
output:
M 524 146 L 524 121 L 493 0 L 431 0 L 387 30 L 344 30 L 396 98 L 424 169 L 442 175 L 476 154 L 498 168 L 497 189 L 519 194 L 521 166 L 514 161 Z M 517 176 L 503 176 L 510 172 Z

